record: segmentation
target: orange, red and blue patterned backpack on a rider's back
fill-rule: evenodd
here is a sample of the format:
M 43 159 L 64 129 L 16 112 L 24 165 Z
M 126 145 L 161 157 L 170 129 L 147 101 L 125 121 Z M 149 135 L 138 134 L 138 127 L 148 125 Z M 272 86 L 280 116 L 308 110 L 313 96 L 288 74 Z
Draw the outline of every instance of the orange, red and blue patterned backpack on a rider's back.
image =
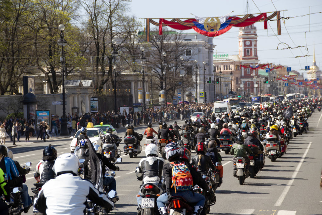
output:
M 192 179 L 191 172 L 184 162 L 174 163 L 172 167 L 172 185 L 171 188 L 175 188 L 175 193 L 177 191 L 189 191 L 192 190 L 194 183 Z

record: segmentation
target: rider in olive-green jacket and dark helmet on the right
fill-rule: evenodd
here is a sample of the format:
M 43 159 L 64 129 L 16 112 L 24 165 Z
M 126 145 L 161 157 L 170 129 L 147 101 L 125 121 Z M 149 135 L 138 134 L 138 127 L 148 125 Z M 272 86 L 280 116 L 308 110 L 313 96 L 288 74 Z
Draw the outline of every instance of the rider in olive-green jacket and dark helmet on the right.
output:
M 243 157 L 245 159 L 245 161 L 246 161 L 246 171 L 245 171 L 245 173 L 246 173 L 247 177 L 249 175 L 250 160 L 249 160 L 248 156 L 246 155 L 246 152 L 248 154 L 251 154 L 251 150 L 248 147 L 248 145 L 244 144 L 244 142 L 245 142 L 244 137 L 242 135 L 238 135 L 236 137 L 236 143 L 237 144 L 233 144 L 232 149 L 230 150 L 230 153 L 234 155 L 234 158 L 232 159 L 233 168 L 234 168 L 234 172 L 233 172 L 234 177 L 236 177 L 236 175 L 237 175 L 236 165 L 234 165 L 235 162 L 236 162 L 237 157 Z

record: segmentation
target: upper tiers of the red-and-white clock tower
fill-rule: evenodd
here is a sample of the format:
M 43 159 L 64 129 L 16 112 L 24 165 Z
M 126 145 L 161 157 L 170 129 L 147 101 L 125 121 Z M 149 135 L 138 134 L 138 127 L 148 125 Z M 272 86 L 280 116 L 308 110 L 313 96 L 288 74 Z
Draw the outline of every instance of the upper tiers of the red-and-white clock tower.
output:
M 239 28 L 238 55 L 242 60 L 258 60 L 257 37 L 254 24 Z

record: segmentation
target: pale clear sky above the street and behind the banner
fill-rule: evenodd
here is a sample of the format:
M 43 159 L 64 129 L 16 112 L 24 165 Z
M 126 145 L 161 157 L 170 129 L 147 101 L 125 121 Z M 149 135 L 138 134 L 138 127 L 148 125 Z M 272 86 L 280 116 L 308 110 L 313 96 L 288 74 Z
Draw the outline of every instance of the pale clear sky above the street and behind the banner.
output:
M 248 5 L 251 14 L 286 10 L 281 12 L 282 17 L 298 16 L 285 20 L 285 25 L 281 21 L 282 35 L 277 35 L 276 21 L 269 21 L 267 30 L 264 30 L 263 22 L 254 24 L 257 28 L 257 52 L 261 64 L 282 64 L 302 73 L 305 72 L 305 66 L 312 65 L 313 47 L 315 47 L 317 66 L 321 68 L 322 13 L 317 12 L 322 11 L 322 0 L 248 0 Z M 191 14 L 199 17 L 221 17 L 231 11 L 233 11 L 231 15 L 244 15 L 247 13 L 247 0 L 132 0 L 129 7 L 130 13 L 145 25 L 145 20 L 139 18 L 156 18 L 155 21 L 158 21 L 158 18 L 194 18 Z M 150 28 L 153 27 L 150 24 Z M 142 30 L 143 28 L 142 25 Z M 214 53 L 238 54 L 238 31 L 238 27 L 232 27 L 225 34 L 214 37 L 213 43 L 216 45 Z M 195 33 L 195 31 L 187 30 L 184 33 Z M 290 47 L 305 47 L 277 50 L 280 42 Z M 283 46 L 280 45 L 279 48 L 281 47 Z M 311 56 L 296 58 L 303 55 Z

